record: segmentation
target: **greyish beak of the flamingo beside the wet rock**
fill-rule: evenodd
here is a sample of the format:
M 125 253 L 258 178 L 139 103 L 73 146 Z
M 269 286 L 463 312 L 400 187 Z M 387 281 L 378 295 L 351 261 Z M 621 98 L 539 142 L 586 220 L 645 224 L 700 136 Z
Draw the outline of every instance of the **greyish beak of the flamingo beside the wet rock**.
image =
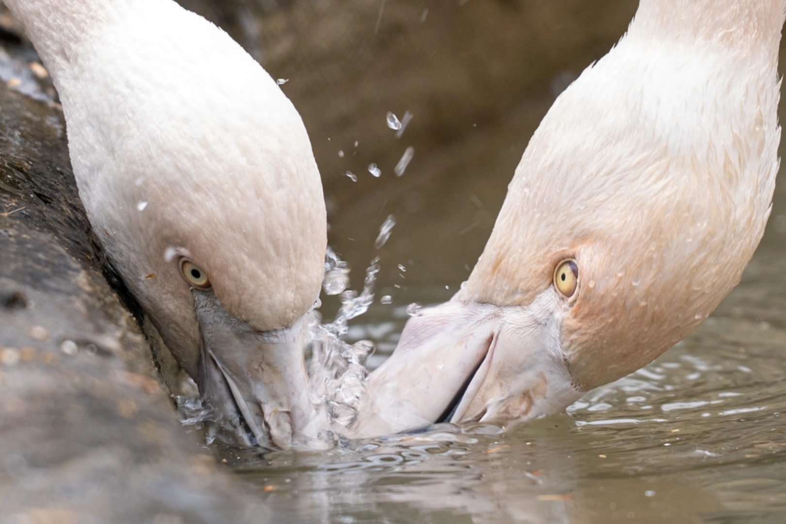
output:
M 197 383 L 216 421 L 247 445 L 326 447 L 320 432 L 327 420 L 310 400 L 303 360 L 310 314 L 289 328 L 259 332 L 212 293 L 193 295 L 202 335 Z

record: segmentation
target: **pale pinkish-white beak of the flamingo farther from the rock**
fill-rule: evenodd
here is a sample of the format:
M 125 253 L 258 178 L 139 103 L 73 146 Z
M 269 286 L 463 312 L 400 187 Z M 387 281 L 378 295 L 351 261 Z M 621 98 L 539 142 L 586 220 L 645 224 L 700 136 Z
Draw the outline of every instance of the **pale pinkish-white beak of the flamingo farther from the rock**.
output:
M 451 301 L 424 310 L 369 375 L 352 436 L 530 420 L 564 409 L 582 395 L 560 344 L 564 308 L 548 289 L 526 307 Z

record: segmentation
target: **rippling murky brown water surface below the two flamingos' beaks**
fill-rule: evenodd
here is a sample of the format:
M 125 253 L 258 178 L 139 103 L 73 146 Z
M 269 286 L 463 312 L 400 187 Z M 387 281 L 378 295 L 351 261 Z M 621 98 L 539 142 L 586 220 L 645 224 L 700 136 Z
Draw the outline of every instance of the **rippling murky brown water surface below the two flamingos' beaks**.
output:
M 786 330 L 738 309 L 769 289 L 777 258 L 760 255 L 693 335 L 565 414 L 230 464 L 281 522 L 782 522 Z M 361 319 L 347 339 L 376 343 L 374 367 L 406 313 Z

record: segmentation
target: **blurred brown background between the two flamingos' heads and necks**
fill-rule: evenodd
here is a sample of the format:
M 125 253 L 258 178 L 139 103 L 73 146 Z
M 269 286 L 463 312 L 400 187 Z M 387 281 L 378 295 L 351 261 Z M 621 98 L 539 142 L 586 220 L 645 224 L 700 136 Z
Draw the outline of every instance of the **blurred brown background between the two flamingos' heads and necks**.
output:
M 623 35 L 637 6 L 180 2 L 229 31 L 275 79 L 288 79 L 282 89 L 303 115 L 324 181 L 330 244 L 351 262 L 356 287 L 369 260 L 381 255 L 377 296 L 392 295 L 394 305 L 444 299 L 465 280 L 529 137 L 556 95 Z M 387 112 L 399 119 L 411 113 L 400 138 L 388 128 Z M 413 160 L 396 177 L 410 146 Z M 369 163 L 380 167 L 380 178 L 369 174 Z M 376 250 L 389 214 L 397 225 Z

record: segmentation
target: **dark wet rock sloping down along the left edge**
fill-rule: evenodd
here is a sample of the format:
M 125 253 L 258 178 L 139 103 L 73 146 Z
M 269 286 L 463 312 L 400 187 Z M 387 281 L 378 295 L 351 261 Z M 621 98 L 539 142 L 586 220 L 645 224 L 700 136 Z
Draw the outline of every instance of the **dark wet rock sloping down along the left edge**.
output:
M 0 46 L 0 75 L 35 55 Z M 34 82 L 0 83 L 0 524 L 267 522 L 176 420 Z

